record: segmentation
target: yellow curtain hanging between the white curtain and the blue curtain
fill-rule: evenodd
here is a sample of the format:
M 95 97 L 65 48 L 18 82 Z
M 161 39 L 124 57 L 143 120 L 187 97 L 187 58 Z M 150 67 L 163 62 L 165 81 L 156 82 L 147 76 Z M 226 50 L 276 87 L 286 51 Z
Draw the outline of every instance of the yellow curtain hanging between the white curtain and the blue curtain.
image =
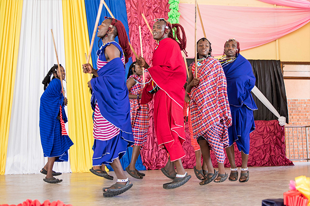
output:
M 89 38 L 84 0 L 63 0 L 70 165 L 73 173 L 89 172 L 92 166 L 93 122 L 88 74 L 83 73 Z M 90 61 L 91 63 L 91 61 Z

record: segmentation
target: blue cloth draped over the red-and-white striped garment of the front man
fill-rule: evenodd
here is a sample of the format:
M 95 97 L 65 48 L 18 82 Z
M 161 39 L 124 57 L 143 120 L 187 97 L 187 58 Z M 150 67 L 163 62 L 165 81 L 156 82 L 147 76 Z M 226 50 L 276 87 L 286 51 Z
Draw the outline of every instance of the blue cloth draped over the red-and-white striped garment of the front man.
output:
M 121 159 L 127 148 L 135 143 L 130 122 L 129 92 L 124 73 L 121 58 L 115 58 L 98 71 L 99 77 L 90 81 L 100 113 L 120 129 L 120 133 L 110 140 L 95 139 L 93 166 L 110 164 L 115 158 Z

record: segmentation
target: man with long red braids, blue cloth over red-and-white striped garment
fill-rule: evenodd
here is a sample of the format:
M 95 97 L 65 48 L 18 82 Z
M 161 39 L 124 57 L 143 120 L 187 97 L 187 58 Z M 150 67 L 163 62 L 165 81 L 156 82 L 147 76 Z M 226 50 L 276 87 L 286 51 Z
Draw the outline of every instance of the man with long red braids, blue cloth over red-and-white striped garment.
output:
M 126 177 L 120 162 L 127 148 L 135 143 L 124 67 L 132 53 L 121 21 L 105 18 L 98 26 L 97 36 L 103 42 L 103 46 L 97 51 L 98 70 L 86 63 L 83 64 L 83 72 L 97 77 L 88 81 L 95 102 L 94 155 L 90 171 L 109 179 L 103 172 L 103 164 L 111 165 L 118 180 L 111 187 L 103 188 L 103 196 L 113 197 L 129 190 L 133 185 Z M 120 44 L 114 41 L 116 36 L 119 37 Z

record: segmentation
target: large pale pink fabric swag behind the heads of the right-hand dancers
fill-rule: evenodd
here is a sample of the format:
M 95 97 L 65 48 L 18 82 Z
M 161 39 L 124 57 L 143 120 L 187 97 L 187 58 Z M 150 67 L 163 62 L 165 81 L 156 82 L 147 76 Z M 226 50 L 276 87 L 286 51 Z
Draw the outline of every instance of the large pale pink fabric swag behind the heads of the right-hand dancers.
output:
M 297 1 L 303 1 L 303 4 L 298 4 Z M 199 5 L 207 39 L 212 44 L 212 55 L 222 55 L 224 43 L 229 38 L 237 39 L 241 50 L 245 50 L 274 41 L 310 22 L 310 8 L 307 7 L 306 1 L 295 0 L 294 4 L 289 4 L 288 0 L 283 0 L 283 5 L 299 5 L 301 8 Z M 179 4 L 180 24 L 187 35 L 186 49 L 189 58 L 194 58 L 194 11 L 194 4 Z M 197 15 L 197 40 L 202 37 L 203 31 Z

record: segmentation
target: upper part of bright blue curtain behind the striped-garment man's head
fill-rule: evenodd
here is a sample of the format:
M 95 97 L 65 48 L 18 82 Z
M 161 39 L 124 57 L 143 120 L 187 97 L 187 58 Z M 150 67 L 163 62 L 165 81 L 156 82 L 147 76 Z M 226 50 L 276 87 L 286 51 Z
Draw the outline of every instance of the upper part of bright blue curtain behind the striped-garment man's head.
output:
M 105 0 L 105 3 L 108 5 L 114 17 L 123 23 L 125 30 L 127 32 L 127 36 L 129 38 L 129 27 L 127 20 L 127 11 L 126 11 L 126 3 L 125 0 Z M 100 0 L 85 0 L 85 9 L 86 9 L 86 19 L 87 19 L 87 27 L 88 27 L 88 35 L 89 35 L 89 43 L 91 42 L 91 37 L 94 32 L 94 27 L 96 23 L 98 8 L 99 8 Z M 99 24 L 101 24 L 104 20 L 104 16 L 111 17 L 108 11 L 105 9 L 103 5 L 103 9 L 101 12 Z M 98 27 L 98 25 L 97 25 Z M 119 38 L 115 38 L 116 42 L 119 42 Z M 99 49 L 98 47 L 99 37 L 95 37 L 94 46 L 91 51 L 91 58 L 93 61 L 93 68 L 97 69 L 97 54 L 96 51 Z M 100 41 L 100 46 L 102 42 Z M 127 77 L 129 66 L 132 63 L 132 59 L 129 58 L 128 63 L 126 63 L 125 77 Z

